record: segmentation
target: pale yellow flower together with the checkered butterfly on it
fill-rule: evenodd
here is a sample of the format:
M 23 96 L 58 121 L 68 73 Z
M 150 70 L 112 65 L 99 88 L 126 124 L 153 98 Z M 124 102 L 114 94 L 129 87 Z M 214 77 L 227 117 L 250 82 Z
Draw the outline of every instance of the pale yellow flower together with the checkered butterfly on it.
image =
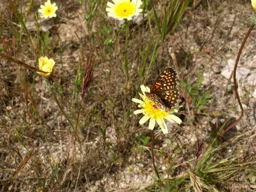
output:
M 177 88 L 176 73 L 174 69 L 167 68 L 157 78 L 157 81 L 150 87 L 140 86 L 140 99 L 133 98 L 132 101 L 139 103 L 141 109 L 135 110 L 133 113 L 143 114 L 139 124 L 144 124 L 149 119 L 149 130 L 153 130 L 157 123 L 164 134 L 168 133 L 165 119 L 171 123 L 182 123 L 181 119 L 173 113 L 177 113 L 179 106 L 179 90 Z

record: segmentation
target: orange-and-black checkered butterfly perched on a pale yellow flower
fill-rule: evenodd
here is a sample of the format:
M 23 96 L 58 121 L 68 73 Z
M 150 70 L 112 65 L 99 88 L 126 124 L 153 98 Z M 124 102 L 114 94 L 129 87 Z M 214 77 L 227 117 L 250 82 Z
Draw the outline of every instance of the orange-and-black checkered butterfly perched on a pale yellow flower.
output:
M 161 73 L 155 83 L 150 87 L 150 93 L 146 97 L 155 103 L 159 110 L 169 111 L 176 105 L 179 99 L 177 87 L 177 74 L 173 68 L 167 68 Z

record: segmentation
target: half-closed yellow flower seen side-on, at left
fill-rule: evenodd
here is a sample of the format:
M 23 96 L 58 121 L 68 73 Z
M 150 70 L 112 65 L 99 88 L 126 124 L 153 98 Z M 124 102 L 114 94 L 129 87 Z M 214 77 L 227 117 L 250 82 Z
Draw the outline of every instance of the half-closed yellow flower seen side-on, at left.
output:
M 55 65 L 55 61 L 53 59 L 48 59 L 45 57 L 40 57 L 38 59 L 39 62 L 39 69 L 42 71 L 45 71 L 46 73 L 36 72 L 39 75 L 42 75 L 43 77 L 47 78 L 52 74 L 53 66 Z

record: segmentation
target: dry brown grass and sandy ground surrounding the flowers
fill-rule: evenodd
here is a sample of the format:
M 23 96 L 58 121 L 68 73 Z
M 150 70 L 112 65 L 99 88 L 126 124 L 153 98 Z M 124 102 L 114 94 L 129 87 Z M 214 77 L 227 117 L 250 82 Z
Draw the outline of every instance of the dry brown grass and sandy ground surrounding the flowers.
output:
M 129 23 L 127 39 L 125 27 L 107 17 L 106 0 L 54 2 L 58 17 L 42 24 L 50 27 L 47 32 L 23 25 L 25 20 L 35 20 L 43 1 L 0 2 L 1 53 L 33 67 L 39 57 L 47 55 L 56 62 L 57 77 L 48 85 L 34 71 L 13 62 L 0 66 L 0 188 L 256 190 L 255 87 L 246 77 L 239 79 L 238 89 L 244 117 L 220 136 L 239 117 L 233 83 L 221 71 L 228 60 L 235 60 L 250 26 L 247 18 L 253 10 L 249 1 L 191 1 L 179 25 L 163 42 L 157 41 L 153 1 L 143 1 L 147 14 L 140 23 Z M 167 1 L 154 2 L 161 19 Z M 251 71 L 255 71 L 254 35 L 255 29 L 239 63 Z M 80 111 L 84 66 L 91 54 L 93 82 Z M 140 116 L 133 115 L 136 106 L 131 99 L 137 97 L 140 84 L 150 86 L 164 68 L 174 67 L 173 54 L 184 106 L 177 115 L 183 123 L 168 124 L 166 135 L 155 127 L 155 162 L 161 175 L 157 181 L 147 124 L 138 124 Z

